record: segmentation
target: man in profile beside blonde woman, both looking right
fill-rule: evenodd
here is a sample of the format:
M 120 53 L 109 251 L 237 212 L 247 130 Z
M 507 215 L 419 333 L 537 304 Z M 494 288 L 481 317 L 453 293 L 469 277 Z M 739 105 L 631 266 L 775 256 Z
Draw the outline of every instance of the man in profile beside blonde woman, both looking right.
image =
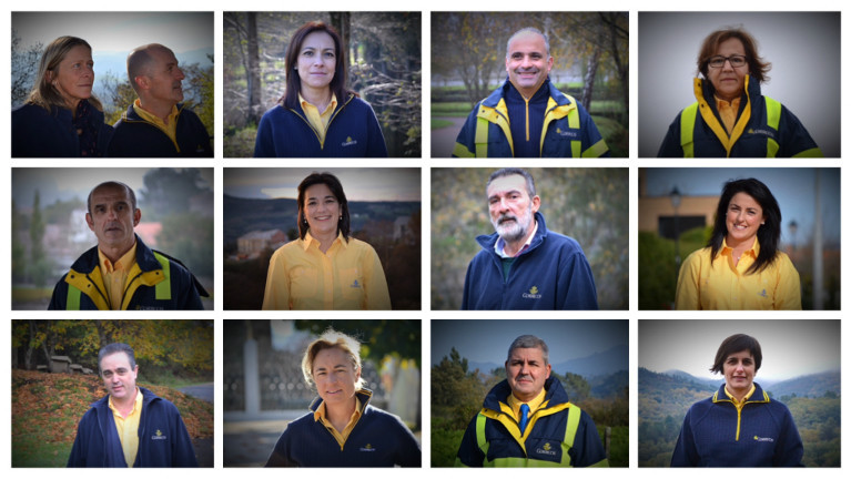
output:
M 128 77 L 139 99 L 115 123 L 109 156 L 213 156 L 201 119 L 181 103 L 185 77 L 174 52 L 159 43 L 136 48 Z

